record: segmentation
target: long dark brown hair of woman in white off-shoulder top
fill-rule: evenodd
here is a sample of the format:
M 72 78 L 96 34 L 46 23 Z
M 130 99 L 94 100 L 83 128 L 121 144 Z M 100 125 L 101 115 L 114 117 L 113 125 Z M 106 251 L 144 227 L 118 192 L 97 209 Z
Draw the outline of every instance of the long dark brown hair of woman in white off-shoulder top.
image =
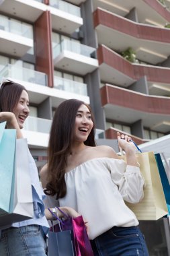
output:
M 65 197 L 67 187 L 65 183 L 65 168 L 67 156 L 71 152 L 71 141 L 75 127 L 75 117 L 79 107 L 84 104 L 91 113 L 89 105 L 81 100 L 65 100 L 62 102 L 53 117 L 48 144 L 48 184 L 45 193 L 56 195 L 56 199 Z M 91 119 L 94 124 L 93 114 Z M 87 146 L 95 146 L 95 125 L 86 141 Z

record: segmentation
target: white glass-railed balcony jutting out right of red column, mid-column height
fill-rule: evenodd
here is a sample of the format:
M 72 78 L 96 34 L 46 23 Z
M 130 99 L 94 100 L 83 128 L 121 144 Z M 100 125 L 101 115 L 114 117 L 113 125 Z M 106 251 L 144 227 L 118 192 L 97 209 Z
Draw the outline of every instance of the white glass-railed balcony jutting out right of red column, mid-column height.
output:
M 62 40 L 53 49 L 54 66 L 58 69 L 86 75 L 98 67 L 97 59 L 92 56 L 95 48 L 74 42 Z

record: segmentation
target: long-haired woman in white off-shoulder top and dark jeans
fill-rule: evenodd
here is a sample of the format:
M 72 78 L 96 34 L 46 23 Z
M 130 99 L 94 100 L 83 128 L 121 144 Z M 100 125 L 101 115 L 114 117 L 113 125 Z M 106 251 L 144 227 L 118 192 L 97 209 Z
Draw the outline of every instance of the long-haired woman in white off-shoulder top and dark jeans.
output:
M 95 256 L 148 255 L 138 220 L 124 203 L 144 197 L 134 143 L 118 133 L 126 163 L 112 148 L 96 146 L 94 135 L 89 105 L 75 99 L 62 102 L 52 121 L 42 185 L 60 206 L 73 207 L 88 221 Z

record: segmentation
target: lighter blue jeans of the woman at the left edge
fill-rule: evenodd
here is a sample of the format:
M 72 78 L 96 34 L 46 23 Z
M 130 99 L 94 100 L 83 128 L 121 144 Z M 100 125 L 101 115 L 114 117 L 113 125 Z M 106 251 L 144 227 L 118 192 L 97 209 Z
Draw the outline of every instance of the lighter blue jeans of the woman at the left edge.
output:
M 1 231 L 1 256 L 45 256 L 46 238 L 38 225 L 7 228 Z

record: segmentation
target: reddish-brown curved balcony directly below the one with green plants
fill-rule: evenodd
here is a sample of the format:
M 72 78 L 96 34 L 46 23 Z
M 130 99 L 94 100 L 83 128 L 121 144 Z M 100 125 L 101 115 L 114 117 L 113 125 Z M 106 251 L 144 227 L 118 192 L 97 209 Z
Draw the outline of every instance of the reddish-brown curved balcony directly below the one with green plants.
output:
M 100 90 L 101 104 L 107 119 L 129 124 L 141 119 L 144 127 L 162 133 L 169 132 L 169 97 L 150 96 L 108 84 Z

